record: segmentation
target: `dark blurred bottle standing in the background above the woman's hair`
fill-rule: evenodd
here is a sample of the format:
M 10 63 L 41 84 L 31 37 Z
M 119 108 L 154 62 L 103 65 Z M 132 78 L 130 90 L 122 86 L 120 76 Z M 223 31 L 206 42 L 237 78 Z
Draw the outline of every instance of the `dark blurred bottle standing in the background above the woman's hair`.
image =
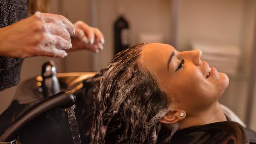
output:
M 115 21 L 114 34 L 115 54 L 117 54 L 129 47 L 129 24 L 122 16 Z

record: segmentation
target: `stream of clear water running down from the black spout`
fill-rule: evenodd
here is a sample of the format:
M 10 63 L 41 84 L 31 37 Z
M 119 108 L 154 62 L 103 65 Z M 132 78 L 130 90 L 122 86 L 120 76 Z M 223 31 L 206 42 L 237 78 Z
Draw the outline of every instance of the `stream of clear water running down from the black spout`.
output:
M 72 137 L 74 140 L 74 144 L 81 144 L 81 138 L 78 131 L 78 124 L 76 122 L 76 115 L 74 112 L 75 107 L 76 105 L 72 105 L 71 107 L 65 109 L 65 111 L 68 114 L 69 126 L 70 126 L 70 131 L 72 133 Z

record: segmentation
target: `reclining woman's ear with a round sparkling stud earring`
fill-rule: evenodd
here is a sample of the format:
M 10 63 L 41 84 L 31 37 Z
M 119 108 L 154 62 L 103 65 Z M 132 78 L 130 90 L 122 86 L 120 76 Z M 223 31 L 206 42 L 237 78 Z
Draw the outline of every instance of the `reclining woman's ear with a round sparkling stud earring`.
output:
M 184 115 L 182 116 L 183 113 Z M 169 109 L 165 116 L 163 116 L 159 122 L 163 124 L 173 124 L 175 122 L 179 122 L 186 117 L 186 112 L 180 109 Z

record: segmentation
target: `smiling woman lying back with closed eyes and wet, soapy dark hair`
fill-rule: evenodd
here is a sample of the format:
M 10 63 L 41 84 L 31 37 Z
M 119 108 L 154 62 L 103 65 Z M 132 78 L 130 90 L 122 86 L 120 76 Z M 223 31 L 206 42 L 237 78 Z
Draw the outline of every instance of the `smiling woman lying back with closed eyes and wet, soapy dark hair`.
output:
M 117 54 L 93 78 L 99 87 L 91 91 L 91 143 L 248 143 L 245 129 L 226 122 L 217 101 L 228 77 L 201 57 L 200 50 L 160 43 Z

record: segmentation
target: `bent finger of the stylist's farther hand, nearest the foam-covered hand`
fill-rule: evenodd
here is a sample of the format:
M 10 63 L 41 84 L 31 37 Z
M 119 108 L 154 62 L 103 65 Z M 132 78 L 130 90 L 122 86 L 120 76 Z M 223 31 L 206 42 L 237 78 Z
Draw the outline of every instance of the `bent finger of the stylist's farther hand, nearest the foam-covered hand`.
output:
M 89 39 L 90 44 L 94 43 L 95 35 L 94 35 L 93 28 L 91 28 L 89 25 L 87 25 L 86 23 L 84 23 L 80 20 L 77 21 L 76 23 L 74 23 L 74 26 L 76 28 L 80 28 L 84 31 L 85 35 Z

